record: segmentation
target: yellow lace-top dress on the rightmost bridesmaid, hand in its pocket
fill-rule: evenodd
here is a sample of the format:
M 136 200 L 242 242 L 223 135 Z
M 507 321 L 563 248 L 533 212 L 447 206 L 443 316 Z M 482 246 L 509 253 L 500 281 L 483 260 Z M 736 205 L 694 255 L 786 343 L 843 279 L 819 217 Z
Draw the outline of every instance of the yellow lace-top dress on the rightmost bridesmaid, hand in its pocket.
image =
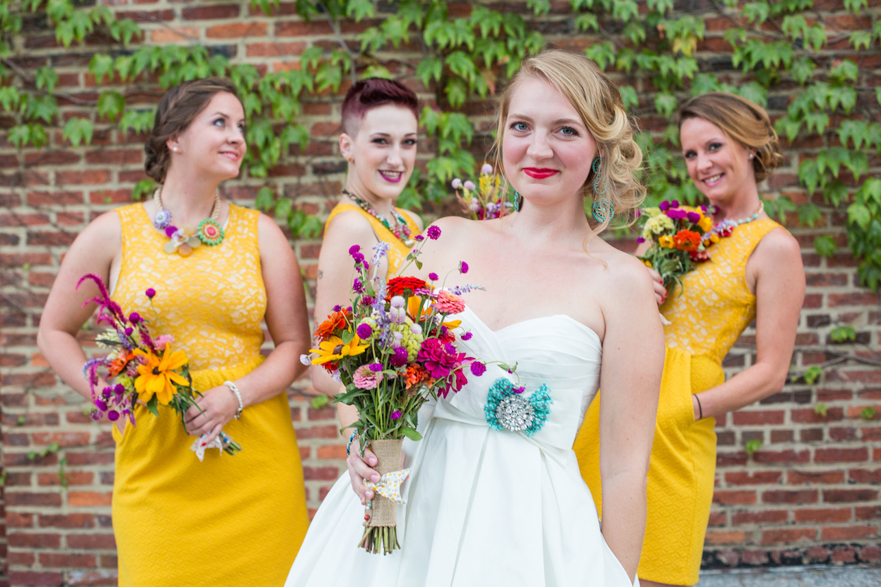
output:
M 745 268 L 759 241 L 780 224 L 741 224 L 710 248 L 710 260 L 684 276 L 684 292 L 670 297 L 664 327 L 661 397 L 648 470 L 648 521 L 638 574 L 673 585 L 698 582 L 715 477 L 715 419 L 694 422 L 692 393 L 725 381 L 722 359 L 756 316 Z M 602 511 L 599 402 L 591 402 L 573 449 L 581 476 Z

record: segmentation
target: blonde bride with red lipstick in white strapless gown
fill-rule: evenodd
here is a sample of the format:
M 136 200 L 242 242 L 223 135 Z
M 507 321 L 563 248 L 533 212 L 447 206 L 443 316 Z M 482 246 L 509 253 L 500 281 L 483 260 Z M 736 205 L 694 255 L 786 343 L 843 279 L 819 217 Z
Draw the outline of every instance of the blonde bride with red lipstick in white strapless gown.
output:
M 379 475 L 373 453 L 365 462 L 353 445 L 349 475 L 319 508 L 288 587 L 638 584 L 663 331 L 645 267 L 596 235 L 612 211 L 626 216 L 640 203 L 640 150 L 615 85 L 563 51 L 523 62 L 498 124 L 496 152 L 520 210 L 442 218 L 421 260 L 439 273 L 468 261 L 468 275 L 454 272 L 448 286 L 485 291 L 467 294 L 455 317 L 472 334 L 458 344 L 516 363 L 515 374 L 490 364 L 422 417 L 424 438 L 405 444 L 401 550 L 387 556 L 356 547 L 373 497 L 361 479 Z M 524 389 L 511 395 L 506 379 Z M 550 413 L 529 436 L 485 410 L 508 395 L 525 406 L 543 385 Z M 602 531 L 571 449 L 601 385 Z

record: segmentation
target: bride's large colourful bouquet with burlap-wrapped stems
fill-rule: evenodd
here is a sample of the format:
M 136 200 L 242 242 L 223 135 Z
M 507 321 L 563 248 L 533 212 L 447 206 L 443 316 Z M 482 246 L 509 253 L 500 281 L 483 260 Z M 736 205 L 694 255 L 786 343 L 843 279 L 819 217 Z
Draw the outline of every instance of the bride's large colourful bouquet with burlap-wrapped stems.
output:
M 426 234 L 436 239 L 441 229 L 432 226 Z M 421 235 L 416 239 L 422 242 L 407 260 L 421 268 L 418 254 L 426 241 Z M 345 385 L 345 392 L 335 400 L 358 408 L 359 421 L 353 426 L 360 437 L 361 455 L 369 446 L 378 459 L 375 468 L 381 480 L 364 481 L 375 497 L 366 506 L 364 535 L 358 545 L 374 554 L 400 548 L 396 504 L 403 504 L 400 487 L 410 470 L 398 469 L 403 438 L 421 438 L 416 430 L 419 407 L 429 398 L 462 389 L 468 383 L 466 367 L 475 376 L 486 370 L 485 364 L 457 351 L 453 330 L 461 320 L 447 319 L 448 314 L 464 310 L 463 293 L 483 288 L 470 284 L 446 290 L 442 283 L 436 287 L 439 277 L 434 273 L 428 275 L 428 282 L 407 276 L 381 282 L 375 268 L 388 247 L 384 242 L 374 246 L 371 261 L 359 246 L 349 249 L 355 264 L 352 305 L 337 305 L 315 330 L 318 348 L 300 357 L 304 364 L 322 365 Z M 457 269 L 467 273 L 468 264 L 462 261 Z M 463 340 L 470 336 L 462 334 Z

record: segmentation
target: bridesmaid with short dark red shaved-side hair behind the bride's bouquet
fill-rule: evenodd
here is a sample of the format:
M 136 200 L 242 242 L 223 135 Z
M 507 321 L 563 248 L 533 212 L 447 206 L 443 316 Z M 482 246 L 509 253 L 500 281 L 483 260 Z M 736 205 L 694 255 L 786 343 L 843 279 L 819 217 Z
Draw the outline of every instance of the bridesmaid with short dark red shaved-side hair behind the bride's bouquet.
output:
M 416 165 L 417 106 L 412 90 L 379 77 L 361 80 L 346 93 L 339 150 L 348 162 L 348 171 L 343 195 L 324 225 L 315 293 L 316 324 L 333 312 L 334 306 L 348 305 L 350 247 L 359 246 L 370 262 L 376 243 L 389 243 L 388 258 L 381 260 L 377 273 L 385 279 L 396 273 L 416 244 L 422 221 L 396 208 L 395 201 Z M 340 384 L 321 368 L 312 370 L 312 385 L 331 396 L 340 392 Z M 358 419 L 352 406 L 337 404 L 337 411 L 343 428 Z M 349 432 L 344 434 L 346 438 L 352 436 Z

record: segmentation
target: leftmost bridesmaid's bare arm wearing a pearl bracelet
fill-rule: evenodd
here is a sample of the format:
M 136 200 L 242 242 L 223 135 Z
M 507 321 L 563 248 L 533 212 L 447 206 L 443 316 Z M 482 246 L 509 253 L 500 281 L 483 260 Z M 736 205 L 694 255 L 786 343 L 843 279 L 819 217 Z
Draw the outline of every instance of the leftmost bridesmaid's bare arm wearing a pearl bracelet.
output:
M 300 355 L 307 352 L 310 342 L 306 293 L 297 258 L 284 233 L 268 216 L 259 216 L 257 234 L 266 288 L 266 326 L 275 349 L 263 364 L 233 382 L 246 408 L 285 393 L 306 371 Z M 209 434 L 209 441 L 239 409 L 239 401 L 226 385 L 206 391 L 198 403 L 203 413 L 196 407 L 189 409 L 187 431 L 194 436 Z

